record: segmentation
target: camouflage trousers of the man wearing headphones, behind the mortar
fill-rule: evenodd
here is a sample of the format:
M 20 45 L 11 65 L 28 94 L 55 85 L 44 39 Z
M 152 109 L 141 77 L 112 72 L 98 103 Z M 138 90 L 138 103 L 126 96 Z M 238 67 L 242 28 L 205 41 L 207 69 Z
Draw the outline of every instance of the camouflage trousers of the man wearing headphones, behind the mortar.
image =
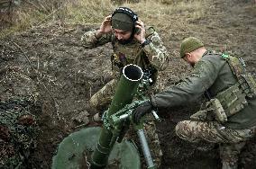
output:
M 114 96 L 114 91 L 115 91 L 115 87 L 118 83 L 117 79 L 113 79 L 110 82 L 108 82 L 107 84 L 105 84 L 105 86 L 103 88 L 101 88 L 97 93 L 95 93 L 89 103 L 90 106 L 93 108 L 98 108 L 98 107 L 102 107 L 107 105 L 108 103 L 111 102 L 112 97 Z M 151 115 L 150 115 L 151 116 Z M 162 151 L 160 148 L 160 140 L 158 137 L 158 134 L 156 132 L 156 124 L 154 122 L 153 117 L 149 117 L 148 119 L 151 120 L 147 120 L 144 125 L 143 125 L 143 130 L 144 133 L 146 135 L 147 141 L 149 142 L 149 147 L 151 149 L 151 156 L 155 162 L 156 165 L 160 166 L 160 160 L 161 160 L 161 156 L 162 156 Z M 131 132 L 133 132 L 135 135 L 131 134 Z M 131 137 L 133 140 L 137 139 L 137 135 L 136 132 L 131 129 L 128 131 L 128 137 Z M 138 146 L 138 141 L 135 141 L 137 146 Z

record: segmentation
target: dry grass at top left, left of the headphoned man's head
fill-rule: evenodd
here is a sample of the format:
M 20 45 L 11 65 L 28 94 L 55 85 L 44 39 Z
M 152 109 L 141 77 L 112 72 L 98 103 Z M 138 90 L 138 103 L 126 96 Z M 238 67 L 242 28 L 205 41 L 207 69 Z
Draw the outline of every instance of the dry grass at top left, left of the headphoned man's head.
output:
M 13 25 L 0 31 L 0 38 L 45 23 L 96 23 L 114 10 L 110 0 L 24 1 L 13 13 Z

